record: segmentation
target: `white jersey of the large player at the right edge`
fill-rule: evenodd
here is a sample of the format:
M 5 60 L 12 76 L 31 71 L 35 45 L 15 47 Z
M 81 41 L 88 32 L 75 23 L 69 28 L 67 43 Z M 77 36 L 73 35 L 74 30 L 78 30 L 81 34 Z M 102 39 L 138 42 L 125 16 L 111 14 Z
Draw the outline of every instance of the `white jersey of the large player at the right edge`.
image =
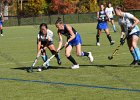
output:
M 134 23 L 133 20 L 133 15 L 130 13 L 124 13 L 123 18 L 119 18 L 118 23 L 119 25 L 123 25 L 124 29 L 125 29 L 125 33 L 128 33 L 128 28 L 132 26 L 132 24 Z M 139 27 L 137 25 L 135 25 L 135 27 L 132 29 L 132 31 L 129 33 L 129 35 L 140 31 Z

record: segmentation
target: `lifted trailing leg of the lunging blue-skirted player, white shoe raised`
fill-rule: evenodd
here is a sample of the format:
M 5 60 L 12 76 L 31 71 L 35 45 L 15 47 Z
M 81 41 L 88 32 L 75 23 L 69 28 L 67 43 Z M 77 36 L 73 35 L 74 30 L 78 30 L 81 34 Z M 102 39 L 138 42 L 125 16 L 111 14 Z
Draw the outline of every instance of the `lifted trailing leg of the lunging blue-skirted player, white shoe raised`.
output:
M 77 53 L 77 56 L 87 56 L 89 58 L 90 62 L 93 62 L 93 60 L 94 60 L 91 52 L 81 51 L 81 44 L 76 45 L 76 53 Z

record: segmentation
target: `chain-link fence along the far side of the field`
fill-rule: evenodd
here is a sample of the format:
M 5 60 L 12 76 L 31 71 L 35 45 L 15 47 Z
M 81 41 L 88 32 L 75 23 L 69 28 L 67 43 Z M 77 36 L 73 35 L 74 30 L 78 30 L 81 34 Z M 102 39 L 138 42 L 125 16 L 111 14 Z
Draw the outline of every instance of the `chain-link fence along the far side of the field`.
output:
M 140 19 L 140 10 L 129 11 Z M 96 22 L 96 13 L 87 14 L 66 14 L 66 15 L 47 15 L 38 17 L 19 17 L 9 16 L 5 20 L 4 26 L 22 26 L 22 25 L 39 25 L 40 23 L 54 24 L 58 17 L 61 17 L 64 23 L 94 23 Z M 115 16 L 117 21 L 117 17 Z

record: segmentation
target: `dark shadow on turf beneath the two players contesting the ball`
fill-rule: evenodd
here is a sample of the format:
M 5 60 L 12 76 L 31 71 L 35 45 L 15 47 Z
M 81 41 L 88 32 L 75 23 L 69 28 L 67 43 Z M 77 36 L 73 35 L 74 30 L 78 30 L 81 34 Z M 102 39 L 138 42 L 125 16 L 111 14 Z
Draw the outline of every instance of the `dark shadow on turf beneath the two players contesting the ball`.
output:
M 30 67 L 17 67 L 17 68 L 11 68 L 11 69 L 17 69 L 17 70 L 27 70 Z M 33 69 L 38 69 L 38 67 L 34 67 Z M 43 67 L 43 70 L 48 69 L 70 69 L 69 67 L 60 67 L 60 66 L 49 66 L 47 69 Z

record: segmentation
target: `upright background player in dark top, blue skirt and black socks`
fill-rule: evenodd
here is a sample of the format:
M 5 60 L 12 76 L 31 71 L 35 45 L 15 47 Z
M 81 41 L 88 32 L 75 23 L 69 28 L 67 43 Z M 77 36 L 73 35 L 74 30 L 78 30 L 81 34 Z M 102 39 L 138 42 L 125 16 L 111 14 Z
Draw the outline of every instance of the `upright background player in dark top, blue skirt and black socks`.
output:
M 100 46 L 99 37 L 101 35 L 102 30 L 105 31 L 107 38 L 110 42 L 110 45 L 113 45 L 114 41 L 112 41 L 111 39 L 111 35 L 109 33 L 109 29 L 107 25 L 108 14 L 105 12 L 103 4 L 100 4 L 100 11 L 97 12 L 97 20 L 98 20 L 98 24 L 97 24 L 96 45 Z

